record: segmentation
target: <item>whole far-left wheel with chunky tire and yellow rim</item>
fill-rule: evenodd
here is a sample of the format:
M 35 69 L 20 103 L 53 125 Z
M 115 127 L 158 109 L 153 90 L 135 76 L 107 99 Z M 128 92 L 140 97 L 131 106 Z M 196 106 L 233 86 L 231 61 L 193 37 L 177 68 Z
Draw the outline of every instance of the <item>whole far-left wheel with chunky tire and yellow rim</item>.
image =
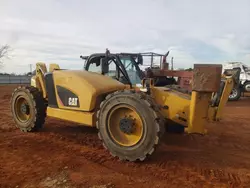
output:
M 46 103 L 35 87 L 20 86 L 12 93 L 11 112 L 16 127 L 23 132 L 38 131 L 46 118 Z

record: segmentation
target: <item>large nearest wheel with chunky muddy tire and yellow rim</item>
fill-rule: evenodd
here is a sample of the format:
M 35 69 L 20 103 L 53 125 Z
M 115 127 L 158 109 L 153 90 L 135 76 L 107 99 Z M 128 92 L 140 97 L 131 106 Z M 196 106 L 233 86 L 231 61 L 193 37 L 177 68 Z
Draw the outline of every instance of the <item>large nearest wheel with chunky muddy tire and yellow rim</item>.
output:
M 154 152 L 162 131 L 157 112 L 147 98 L 144 93 L 117 91 L 101 103 L 97 113 L 98 136 L 111 155 L 121 160 L 143 161 Z M 125 130 L 132 125 L 134 132 L 122 130 L 121 122 L 127 117 L 128 121 L 130 117 L 135 121 L 126 125 Z

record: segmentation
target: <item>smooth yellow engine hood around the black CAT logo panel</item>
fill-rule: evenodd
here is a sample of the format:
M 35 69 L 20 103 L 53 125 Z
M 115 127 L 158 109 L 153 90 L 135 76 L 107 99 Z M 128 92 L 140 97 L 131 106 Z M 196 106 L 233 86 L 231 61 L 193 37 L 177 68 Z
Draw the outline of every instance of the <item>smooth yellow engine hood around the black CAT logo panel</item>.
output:
M 56 92 L 59 108 L 74 109 L 80 111 L 92 111 L 97 99 L 103 94 L 125 89 L 125 85 L 108 77 L 87 71 L 61 70 L 53 72 L 55 87 L 63 87 L 74 93 L 79 100 L 79 107 L 67 107 L 63 105 Z

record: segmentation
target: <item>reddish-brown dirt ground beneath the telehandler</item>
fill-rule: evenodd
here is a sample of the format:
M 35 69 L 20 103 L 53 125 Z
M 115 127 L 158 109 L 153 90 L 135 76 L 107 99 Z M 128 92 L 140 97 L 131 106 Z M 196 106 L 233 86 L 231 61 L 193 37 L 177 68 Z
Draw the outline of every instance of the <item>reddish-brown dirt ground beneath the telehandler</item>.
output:
M 250 187 L 250 98 L 230 102 L 208 135 L 166 134 L 144 162 L 121 162 L 94 128 L 47 118 L 38 133 L 15 128 L 0 86 L 0 187 Z

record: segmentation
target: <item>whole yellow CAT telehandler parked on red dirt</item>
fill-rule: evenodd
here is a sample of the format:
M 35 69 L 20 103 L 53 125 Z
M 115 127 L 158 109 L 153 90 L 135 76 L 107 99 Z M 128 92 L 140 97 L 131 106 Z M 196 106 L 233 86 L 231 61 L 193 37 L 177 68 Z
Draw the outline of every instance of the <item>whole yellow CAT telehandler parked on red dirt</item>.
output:
M 221 65 L 195 64 L 191 95 L 156 87 L 150 78 L 136 87 L 119 55 L 95 57 L 99 73 L 63 70 L 57 64 L 50 64 L 47 71 L 44 63 L 37 63 L 31 85 L 19 86 L 12 94 L 16 126 L 24 132 L 38 131 L 50 116 L 96 127 L 113 156 L 143 161 L 160 143 L 165 124 L 205 134 L 206 122 L 221 118 L 237 83 L 235 70 L 221 76 Z

